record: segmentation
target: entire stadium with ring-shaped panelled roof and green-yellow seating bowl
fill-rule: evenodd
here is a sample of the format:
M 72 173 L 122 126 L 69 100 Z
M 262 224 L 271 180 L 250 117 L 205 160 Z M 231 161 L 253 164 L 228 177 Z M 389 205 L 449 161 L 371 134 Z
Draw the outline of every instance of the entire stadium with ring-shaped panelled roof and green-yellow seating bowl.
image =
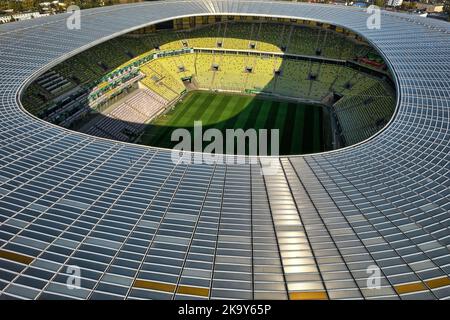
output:
M 0 299 L 450 297 L 448 23 L 264 0 L 70 17 L 0 26 Z M 278 173 L 174 163 L 196 120 L 279 129 Z

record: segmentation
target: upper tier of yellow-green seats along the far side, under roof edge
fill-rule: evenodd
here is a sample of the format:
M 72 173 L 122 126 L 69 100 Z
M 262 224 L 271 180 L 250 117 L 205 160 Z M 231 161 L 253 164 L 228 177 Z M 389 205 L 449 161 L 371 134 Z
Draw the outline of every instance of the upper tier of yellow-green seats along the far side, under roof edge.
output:
M 251 50 L 251 44 L 254 44 L 254 50 L 281 52 L 286 48 L 288 53 L 312 56 L 320 49 L 323 57 L 349 60 L 373 52 L 368 45 L 331 30 L 277 23 L 229 21 L 182 32 L 124 35 L 77 55 L 70 60 L 69 65 L 63 62 L 56 68 L 67 78 L 85 83 L 143 53 L 186 46 L 217 48 L 218 43 L 224 49 Z

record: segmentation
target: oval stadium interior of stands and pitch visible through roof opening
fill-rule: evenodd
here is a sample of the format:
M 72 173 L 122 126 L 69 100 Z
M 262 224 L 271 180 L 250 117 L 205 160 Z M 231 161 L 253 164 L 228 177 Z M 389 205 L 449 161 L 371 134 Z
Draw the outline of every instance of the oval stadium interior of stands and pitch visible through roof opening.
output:
M 103 138 L 172 148 L 171 132 L 200 120 L 205 130 L 279 129 L 281 155 L 365 140 L 395 107 L 384 62 L 357 35 L 244 16 L 143 28 L 70 58 L 27 92 L 25 106 L 50 101 L 41 118 Z

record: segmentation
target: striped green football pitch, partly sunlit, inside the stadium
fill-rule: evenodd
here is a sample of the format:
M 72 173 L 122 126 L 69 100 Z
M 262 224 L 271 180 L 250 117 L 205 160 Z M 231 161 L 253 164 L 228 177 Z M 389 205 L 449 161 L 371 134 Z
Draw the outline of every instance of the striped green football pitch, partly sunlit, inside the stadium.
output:
M 192 134 L 194 121 L 199 120 L 203 132 L 217 128 L 224 137 L 226 129 L 279 129 L 280 155 L 320 152 L 330 148 L 331 140 L 329 116 L 324 113 L 324 108 L 318 105 L 262 96 L 193 91 L 154 119 L 140 143 L 172 148 L 178 143 L 171 141 L 173 130 L 185 128 Z

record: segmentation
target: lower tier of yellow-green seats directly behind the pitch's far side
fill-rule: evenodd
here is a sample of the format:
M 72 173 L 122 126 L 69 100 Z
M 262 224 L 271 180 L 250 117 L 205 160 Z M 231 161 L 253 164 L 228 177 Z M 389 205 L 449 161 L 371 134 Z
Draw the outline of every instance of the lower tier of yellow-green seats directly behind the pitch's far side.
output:
M 159 68 L 159 69 L 158 69 Z M 162 73 L 161 68 L 164 68 Z M 297 98 L 321 100 L 330 92 L 358 94 L 380 81 L 354 69 L 339 65 L 280 57 L 245 56 L 236 54 L 195 53 L 158 59 L 142 70 L 158 69 L 165 75 L 159 82 L 171 83 L 181 92 L 181 79 L 193 76 L 199 88 L 211 90 L 255 90 Z M 149 75 L 153 75 L 149 73 Z M 150 80 L 144 81 L 148 83 Z M 159 78 L 157 78 L 159 79 Z M 165 86 L 150 88 L 161 92 Z M 158 90 L 159 88 L 159 90 Z

